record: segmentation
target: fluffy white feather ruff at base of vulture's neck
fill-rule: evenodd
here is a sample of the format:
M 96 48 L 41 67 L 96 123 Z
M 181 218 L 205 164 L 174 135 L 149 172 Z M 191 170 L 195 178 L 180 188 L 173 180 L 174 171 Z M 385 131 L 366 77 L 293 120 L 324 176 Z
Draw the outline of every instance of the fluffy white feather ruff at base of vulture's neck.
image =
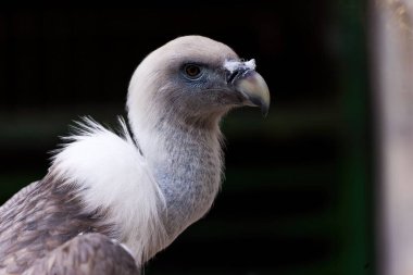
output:
M 121 123 L 123 138 L 86 120 L 54 157 L 50 171 L 78 189 L 85 212 L 108 213 L 104 223 L 114 226 L 140 265 L 168 245 L 160 213 L 165 203 L 147 161 Z

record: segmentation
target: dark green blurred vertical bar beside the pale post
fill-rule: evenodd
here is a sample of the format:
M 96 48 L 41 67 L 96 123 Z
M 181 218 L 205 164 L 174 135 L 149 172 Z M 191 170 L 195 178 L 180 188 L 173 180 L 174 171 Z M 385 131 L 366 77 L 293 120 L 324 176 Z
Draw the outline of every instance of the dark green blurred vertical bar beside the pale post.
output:
M 340 1 L 342 112 L 342 266 L 338 274 L 374 274 L 371 223 L 370 87 L 367 84 L 366 2 Z

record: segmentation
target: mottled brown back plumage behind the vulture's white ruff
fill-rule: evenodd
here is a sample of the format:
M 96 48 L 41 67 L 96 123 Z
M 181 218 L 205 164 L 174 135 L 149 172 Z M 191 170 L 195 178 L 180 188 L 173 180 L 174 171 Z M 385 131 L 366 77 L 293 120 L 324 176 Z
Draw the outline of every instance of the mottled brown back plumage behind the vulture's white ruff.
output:
M 52 176 L 22 189 L 0 208 L 0 275 L 22 274 L 79 233 L 115 238 L 98 213 L 85 213 L 75 190 Z

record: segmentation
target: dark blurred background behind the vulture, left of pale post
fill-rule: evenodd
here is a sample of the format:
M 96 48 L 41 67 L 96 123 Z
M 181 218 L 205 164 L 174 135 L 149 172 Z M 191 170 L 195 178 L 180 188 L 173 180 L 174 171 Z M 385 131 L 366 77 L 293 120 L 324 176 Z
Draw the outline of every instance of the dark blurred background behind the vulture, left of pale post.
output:
M 0 4 L 0 204 L 47 173 L 73 120 L 115 125 L 145 55 L 199 34 L 254 58 L 272 107 L 225 118 L 214 208 L 146 274 L 374 274 L 366 13 L 360 0 Z

